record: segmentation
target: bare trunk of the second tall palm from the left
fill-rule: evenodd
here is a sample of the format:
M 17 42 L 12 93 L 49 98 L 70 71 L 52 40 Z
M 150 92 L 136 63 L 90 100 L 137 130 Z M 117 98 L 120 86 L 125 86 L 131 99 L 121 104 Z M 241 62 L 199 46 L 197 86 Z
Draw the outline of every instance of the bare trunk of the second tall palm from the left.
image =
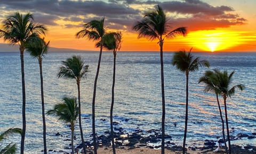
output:
M 42 59 L 39 57 L 39 69 L 40 69 L 40 79 L 41 79 L 41 100 L 42 100 L 42 118 L 43 118 L 43 140 L 44 140 L 44 154 L 47 154 L 46 148 L 46 124 L 45 124 L 45 112 L 44 112 L 44 83 L 43 83 L 43 69 L 42 69 Z

